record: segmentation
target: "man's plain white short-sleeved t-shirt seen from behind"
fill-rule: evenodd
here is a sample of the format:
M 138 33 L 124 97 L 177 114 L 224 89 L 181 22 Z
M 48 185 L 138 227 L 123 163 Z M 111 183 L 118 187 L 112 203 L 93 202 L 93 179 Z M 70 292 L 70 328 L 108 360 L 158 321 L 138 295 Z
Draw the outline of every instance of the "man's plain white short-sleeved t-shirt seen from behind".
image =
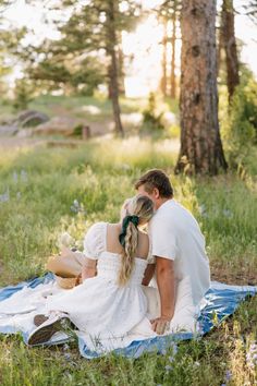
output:
M 189 276 L 193 302 L 198 304 L 210 287 L 210 269 L 196 219 L 175 200 L 169 200 L 152 217 L 149 236 L 152 256 L 173 260 L 176 280 Z

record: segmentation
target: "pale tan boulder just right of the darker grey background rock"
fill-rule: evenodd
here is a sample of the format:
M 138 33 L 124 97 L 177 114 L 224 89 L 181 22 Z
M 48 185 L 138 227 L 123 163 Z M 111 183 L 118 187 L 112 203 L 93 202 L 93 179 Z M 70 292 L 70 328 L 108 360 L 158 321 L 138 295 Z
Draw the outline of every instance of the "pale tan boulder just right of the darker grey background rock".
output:
M 76 121 L 69 117 L 53 117 L 46 123 L 39 124 L 34 129 L 35 134 L 41 135 L 71 135 L 73 134 Z

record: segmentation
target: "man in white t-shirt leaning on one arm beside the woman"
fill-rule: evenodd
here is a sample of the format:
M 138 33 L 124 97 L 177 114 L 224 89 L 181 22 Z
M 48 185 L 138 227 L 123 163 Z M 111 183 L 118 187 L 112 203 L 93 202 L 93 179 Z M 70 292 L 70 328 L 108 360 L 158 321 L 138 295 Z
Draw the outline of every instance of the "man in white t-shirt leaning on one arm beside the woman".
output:
M 174 315 L 176 284 L 189 277 L 194 305 L 198 305 L 210 286 L 209 262 L 205 238 L 193 215 L 173 198 L 168 176 L 158 169 L 149 170 L 135 183 L 139 194 L 155 204 L 156 214 L 149 225 L 152 256 L 143 285 L 148 286 L 154 274 L 160 294 L 160 316 L 152 328 L 163 334 Z

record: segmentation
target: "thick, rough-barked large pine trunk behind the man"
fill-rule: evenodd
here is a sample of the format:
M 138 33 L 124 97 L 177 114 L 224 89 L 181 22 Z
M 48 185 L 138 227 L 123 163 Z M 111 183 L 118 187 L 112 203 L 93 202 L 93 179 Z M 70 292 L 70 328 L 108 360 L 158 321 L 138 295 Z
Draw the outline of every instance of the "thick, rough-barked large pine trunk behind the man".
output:
M 181 149 L 176 172 L 227 169 L 218 121 L 216 0 L 184 0 L 181 17 Z

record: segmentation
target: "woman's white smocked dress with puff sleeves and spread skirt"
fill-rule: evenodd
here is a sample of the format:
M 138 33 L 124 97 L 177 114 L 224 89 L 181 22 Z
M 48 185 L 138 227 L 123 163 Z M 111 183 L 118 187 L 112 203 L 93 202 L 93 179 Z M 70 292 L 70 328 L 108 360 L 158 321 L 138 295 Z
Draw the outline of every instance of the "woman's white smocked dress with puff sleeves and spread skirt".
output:
M 84 254 L 97 260 L 97 276 L 72 290 L 49 297 L 46 309 L 69 313 L 90 349 L 100 345 L 108 350 L 126 346 L 135 335 L 144 338 L 156 334 L 149 315 L 147 317 L 147 297 L 140 285 L 147 261 L 136 257 L 130 281 L 120 287 L 121 256 L 107 251 L 106 240 L 106 222 L 98 222 L 89 229 Z

